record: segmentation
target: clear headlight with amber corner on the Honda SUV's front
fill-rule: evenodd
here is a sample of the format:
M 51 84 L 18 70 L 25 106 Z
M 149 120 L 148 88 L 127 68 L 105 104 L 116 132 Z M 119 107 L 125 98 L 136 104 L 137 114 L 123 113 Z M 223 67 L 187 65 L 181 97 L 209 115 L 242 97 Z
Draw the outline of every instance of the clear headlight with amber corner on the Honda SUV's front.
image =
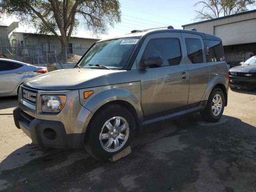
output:
M 42 112 L 58 113 L 66 103 L 65 95 L 43 95 Z

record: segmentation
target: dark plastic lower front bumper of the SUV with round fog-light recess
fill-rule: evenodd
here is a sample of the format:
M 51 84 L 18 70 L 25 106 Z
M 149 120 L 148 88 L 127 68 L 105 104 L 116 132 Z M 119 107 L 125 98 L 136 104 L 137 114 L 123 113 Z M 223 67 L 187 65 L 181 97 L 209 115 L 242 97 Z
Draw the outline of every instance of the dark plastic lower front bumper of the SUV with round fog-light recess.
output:
M 17 128 L 31 138 L 36 146 L 49 148 L 82 148 L 85 133 L 66 134 L 64 124 L 60 121 L 33 118 L 16 107 L 13 110 Z

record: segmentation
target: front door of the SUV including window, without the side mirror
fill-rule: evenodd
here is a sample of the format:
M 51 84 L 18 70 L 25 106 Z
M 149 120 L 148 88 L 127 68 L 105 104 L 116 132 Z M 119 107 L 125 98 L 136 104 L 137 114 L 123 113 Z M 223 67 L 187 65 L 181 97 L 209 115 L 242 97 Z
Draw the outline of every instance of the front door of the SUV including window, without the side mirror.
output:
M 156 33 L 146 37 L 137 55 L 141 79 L 141 105 L 145 118 L 154 118 L 186 109 L 188 66 L 179 32 Z M 144 59 L 160 56 L 163 66 L 140 69 Z

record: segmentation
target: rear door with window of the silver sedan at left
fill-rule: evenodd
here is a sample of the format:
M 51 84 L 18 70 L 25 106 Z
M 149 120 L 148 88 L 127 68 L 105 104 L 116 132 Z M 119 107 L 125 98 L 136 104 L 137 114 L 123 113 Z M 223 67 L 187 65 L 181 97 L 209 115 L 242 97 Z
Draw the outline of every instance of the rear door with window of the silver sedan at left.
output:
M 22 64 L 0 61 L 0 94 L 12 93 L 21 82 L 26 72 Z

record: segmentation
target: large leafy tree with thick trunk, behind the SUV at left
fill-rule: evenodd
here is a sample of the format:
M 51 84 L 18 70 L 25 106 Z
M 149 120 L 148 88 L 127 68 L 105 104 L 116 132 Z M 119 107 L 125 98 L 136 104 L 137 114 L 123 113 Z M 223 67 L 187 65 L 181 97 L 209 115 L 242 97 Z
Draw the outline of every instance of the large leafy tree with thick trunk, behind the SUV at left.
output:
M 1 13 L 32 24 L 41 34 L 54 34 L 62 48 L 79 26 L 104 34 L 121 14 L 118 0 L 0 0 Z

